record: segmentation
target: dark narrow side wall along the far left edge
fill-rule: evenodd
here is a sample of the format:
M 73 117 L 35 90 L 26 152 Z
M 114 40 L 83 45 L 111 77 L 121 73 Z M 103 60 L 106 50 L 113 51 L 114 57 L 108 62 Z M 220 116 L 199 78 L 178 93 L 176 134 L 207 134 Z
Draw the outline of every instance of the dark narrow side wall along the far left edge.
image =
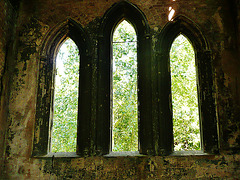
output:
M 0 1 L 0 172 L 4 165 L 5 135 L 7 131 L 8 92 L 10 71 L 7 59 L 13 52 L 16 10 L 8 0 Z M 0 173 L 1 174 L 1 173 Z

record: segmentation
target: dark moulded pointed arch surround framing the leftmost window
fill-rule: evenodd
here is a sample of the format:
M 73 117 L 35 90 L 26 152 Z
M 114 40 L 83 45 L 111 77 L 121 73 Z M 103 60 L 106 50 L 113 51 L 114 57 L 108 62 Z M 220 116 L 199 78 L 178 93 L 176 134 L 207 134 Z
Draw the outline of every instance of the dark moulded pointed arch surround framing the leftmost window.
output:
M 89 98 L 91 98 L 91 62 L 88 54 L 90 46 L 84 29 L 76 21 L 69 18 L 46 35 L 40 51 L 33 156 L 46 155 L 50 152 L 56 73 L 55 61 L 59 48 L 67 38 L 71 38 L 77 45 L 81 58 L 78 89 L 77 153 L 83 154 L 83 151 L 90 146 L 88 140 L 91 117 L 91 101 L 89 101 Z

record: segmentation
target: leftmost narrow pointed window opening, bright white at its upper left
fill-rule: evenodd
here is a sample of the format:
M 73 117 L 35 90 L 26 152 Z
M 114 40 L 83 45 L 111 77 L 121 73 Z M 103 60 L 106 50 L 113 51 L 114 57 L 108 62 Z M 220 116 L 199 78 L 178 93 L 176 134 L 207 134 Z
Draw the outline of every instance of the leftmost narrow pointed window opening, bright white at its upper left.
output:
M 67 39 L 56 58 L 52 152 L 76 152 L 79 51 Z

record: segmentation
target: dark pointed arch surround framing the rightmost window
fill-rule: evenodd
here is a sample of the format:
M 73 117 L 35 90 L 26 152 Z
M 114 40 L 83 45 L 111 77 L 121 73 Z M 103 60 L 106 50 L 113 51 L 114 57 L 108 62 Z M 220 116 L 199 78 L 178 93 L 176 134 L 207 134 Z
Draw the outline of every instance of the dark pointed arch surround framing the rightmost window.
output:
M 218 135 L 214 100 L 212 56 L 208 41 L 200 28 L 185 16 L 177 16 L 161 31 L 157 42 L 156 60 L 158 68 L 158 123 L 159 154 L 173 151 L 173 124 L 171 109 L 170 48 L 174 39 L 183 34 L 195 50 L 198 101 L 200 112 L 201 144 L 204 152 L 218 151 Z M 160 73 L 159 73 L 160 72 Z

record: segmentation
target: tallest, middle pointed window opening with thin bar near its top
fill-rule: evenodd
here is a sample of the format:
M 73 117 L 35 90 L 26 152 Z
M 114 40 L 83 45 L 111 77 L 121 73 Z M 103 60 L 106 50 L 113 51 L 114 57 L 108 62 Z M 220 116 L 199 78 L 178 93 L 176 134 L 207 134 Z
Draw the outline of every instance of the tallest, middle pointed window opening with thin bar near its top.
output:
M 112 151 L 138 151 L 137 36 L 126 20 L 112 49 Z

